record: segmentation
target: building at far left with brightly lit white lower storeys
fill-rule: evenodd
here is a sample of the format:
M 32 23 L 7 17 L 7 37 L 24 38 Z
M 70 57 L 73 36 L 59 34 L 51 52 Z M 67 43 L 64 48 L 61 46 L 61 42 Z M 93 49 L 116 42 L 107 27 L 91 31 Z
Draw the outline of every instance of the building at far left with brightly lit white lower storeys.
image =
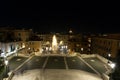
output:
M 0 55 L 9 56 L 26 47 L 26 42 L 32 35 L 32 30 L 16 30 L 14 28 L 0 29 Z

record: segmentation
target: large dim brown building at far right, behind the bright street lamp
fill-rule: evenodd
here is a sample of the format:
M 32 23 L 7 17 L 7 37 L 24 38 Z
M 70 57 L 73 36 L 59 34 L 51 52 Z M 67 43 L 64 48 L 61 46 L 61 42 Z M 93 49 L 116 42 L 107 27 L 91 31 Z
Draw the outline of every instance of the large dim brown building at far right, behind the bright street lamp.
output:
M 91 53 L 99 54 L 106 58 L 115 58 L 120 50 L 120 34 L 108 34 L 92 38 Z

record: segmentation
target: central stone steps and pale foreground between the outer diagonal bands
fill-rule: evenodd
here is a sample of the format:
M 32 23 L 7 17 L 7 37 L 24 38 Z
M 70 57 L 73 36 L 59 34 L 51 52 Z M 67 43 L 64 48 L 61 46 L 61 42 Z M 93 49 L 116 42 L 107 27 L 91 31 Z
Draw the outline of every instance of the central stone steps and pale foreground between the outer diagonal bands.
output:
M 33 56 L 12 80 L 102 80 L 78 56 Z

